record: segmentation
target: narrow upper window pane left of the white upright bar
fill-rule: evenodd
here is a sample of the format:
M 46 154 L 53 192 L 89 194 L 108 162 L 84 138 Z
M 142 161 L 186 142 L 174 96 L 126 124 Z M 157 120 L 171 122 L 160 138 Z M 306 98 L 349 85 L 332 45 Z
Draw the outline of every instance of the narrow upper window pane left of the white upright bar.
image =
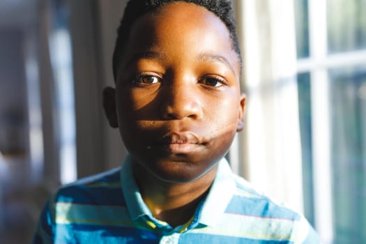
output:
M 296 51 L 298 59 L 309 56 L 309 11 L 307 0 L 295 0 Z

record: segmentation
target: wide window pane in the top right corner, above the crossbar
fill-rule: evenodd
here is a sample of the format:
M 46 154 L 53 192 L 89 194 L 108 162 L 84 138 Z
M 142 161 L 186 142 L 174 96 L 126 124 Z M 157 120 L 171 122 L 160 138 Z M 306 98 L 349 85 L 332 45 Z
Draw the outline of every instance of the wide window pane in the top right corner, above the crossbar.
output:
M 366 0 L 328 0 L 328 52 L 366 48 Z

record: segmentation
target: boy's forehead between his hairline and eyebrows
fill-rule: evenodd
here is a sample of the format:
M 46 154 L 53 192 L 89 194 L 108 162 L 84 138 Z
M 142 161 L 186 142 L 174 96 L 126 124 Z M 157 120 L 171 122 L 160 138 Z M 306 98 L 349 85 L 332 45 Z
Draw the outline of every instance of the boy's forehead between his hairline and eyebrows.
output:
M 197 41 L 191 42 L 192 45 L 184 45 L 190 36 L 195 36 Z M 219 17 L 194 3 L 168 3 L 157 11 L 146 13 L 135 20 L 130 29 L 125 49 L 127 52 L 123 52 L 122 59 L 125 63 L 128 52 L 157 47 L 162 43 L 176 43 L 177 49 L 183 47 L 204 49 L 199 45 L 204 43 L 204 40 L 208 44 L 212 43 L 213 39 L 219 42 L 218 45 L 209 45 L 210 51 L 222 52 L 224 59 L 229 60 L 231 66 L 238 70 L 236 73 L 240 74 L 240 59 L 232 48 L 229 30 Z

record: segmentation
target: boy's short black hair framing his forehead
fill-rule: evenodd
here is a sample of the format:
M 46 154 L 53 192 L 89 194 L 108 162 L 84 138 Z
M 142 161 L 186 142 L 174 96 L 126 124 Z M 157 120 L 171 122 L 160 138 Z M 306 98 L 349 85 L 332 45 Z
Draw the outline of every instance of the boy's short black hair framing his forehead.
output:
M 239 47 L 238 35 L 236 33 L 236 22 L 233 14 L 234 11 L 230 0 L 130 0 L 127 3 L 119 28 L 117 29 L 116 45 L 114 47 L 112 59 L 115 81 L 121 53 L 128 42 L 132 24 L 142 15 L 146 13 L 156 13 L 160 7 L 165 6 L 167 3 L 178 1 L 194 3 L 218 16 L 220 20 L 224 22 L 225 26 L 227 26 L 230 33 L 232 48 L 238 54 L 238 59 L 240 63 L 242 63 L 241 50 Z

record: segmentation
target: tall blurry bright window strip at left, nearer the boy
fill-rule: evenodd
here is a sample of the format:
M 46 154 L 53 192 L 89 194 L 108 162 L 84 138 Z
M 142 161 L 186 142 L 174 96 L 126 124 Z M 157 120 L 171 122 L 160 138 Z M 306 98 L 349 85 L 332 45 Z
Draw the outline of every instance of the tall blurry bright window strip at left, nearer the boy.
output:
M 64 184 L 77 179 L 73 61 L 68 29 L 68 5 L 66 1 L 54 0 L 52 7 L 54 26 L 49 33 L 49 47 L 58 116 L 60 178 Z

